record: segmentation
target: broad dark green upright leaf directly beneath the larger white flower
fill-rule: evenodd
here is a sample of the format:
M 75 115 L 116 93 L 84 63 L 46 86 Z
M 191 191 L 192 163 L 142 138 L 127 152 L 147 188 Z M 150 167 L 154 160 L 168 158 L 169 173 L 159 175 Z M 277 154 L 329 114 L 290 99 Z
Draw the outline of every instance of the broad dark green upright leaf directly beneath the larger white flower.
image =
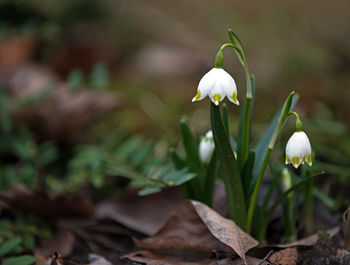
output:
M 220 108 L 211 103 L 210 120 L 215 149 L 220 161 L 220 170 L 225 182 L 229 215 L 242 229 L 246 225 L 246 206 L 243 186 L 237 161 L 231 149 L 230 140 L 222 123 Z

